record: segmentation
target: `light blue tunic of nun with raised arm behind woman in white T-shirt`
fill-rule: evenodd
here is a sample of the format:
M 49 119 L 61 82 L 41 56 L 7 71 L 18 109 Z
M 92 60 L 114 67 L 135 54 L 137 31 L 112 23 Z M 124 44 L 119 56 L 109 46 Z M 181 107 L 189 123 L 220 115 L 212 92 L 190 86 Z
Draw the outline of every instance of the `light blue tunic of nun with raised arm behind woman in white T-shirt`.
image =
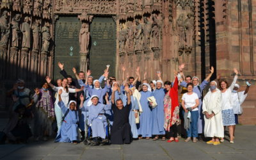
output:
M 198 122 L 197 122 L 198 134 L 202 134 L 202 132 L 204 131 L 204 115 L 202 113 L 202 92 L 208 83 L 209 82 L 207 82 L 205 80 L 202 81 L 202 83 L 199 85 L 201 92 L 200 92 L 198 86 L 194 86 L 194 88 L 193 88 L 193 92 L 195 92 L 199 98 L 199 106 L 198 106 L 199 116 L 198 116 Z M 185 81 L 182 81 L 182 83 L 180 83 L 180 86 L 187 87 L 187 83 Z

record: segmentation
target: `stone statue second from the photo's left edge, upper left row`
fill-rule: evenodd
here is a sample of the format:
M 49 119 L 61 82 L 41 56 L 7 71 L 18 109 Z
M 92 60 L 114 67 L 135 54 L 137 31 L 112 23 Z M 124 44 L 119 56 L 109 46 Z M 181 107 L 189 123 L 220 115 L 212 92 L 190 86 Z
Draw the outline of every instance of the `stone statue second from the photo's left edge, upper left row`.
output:
M 19 22 L 20 14 L 16 14 L 12 19 L 12 47 L 19 47 Z

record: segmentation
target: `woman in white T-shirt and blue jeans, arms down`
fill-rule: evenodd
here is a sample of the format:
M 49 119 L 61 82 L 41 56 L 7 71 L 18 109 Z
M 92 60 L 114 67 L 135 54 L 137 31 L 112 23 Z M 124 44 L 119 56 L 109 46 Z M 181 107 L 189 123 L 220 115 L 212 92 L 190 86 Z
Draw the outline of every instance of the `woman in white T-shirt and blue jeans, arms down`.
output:
M 198 95 L 193 92 L 193 84 L 188 83 L 187 88 L 188 92 L 184 93 L 182 95 L 182 108 L 184 109 L 184 124 L 188 124 L 188 127 L 185 127 L 187 131 L 187 136 L 188 138 L 185 140 L 186 142 L 191 140 L 191 136 L 193 136 L 193 142 L 197 141 L 197 136 L 198 136 L 198 130 L 197 130 L 197 122 L 198 122 L 198 105 L 199 105 L 199 100 L 198 100 Z M 189 114 L 190 113 L 190 114 Z M 190 118 L 189 118 L 189 115 Z M 189 119 L 189 122 L 186 122 L 186 120 Z

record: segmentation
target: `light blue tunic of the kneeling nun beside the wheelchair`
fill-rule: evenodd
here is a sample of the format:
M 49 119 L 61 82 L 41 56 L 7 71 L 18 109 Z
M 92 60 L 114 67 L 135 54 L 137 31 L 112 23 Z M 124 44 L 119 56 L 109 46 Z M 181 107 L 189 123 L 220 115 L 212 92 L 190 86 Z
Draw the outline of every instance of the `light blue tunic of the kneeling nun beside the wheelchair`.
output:
M 61 101 L 58 102 L 63 115 L 65 115 L 68 108 Z M 76 115 L 77 114 L 77 115 Z M 56 142 L 72 142 L 77 141 L 77 122 L 78 122 L 78 111 L 69 110 L 67 116 L 63 120 L 60 128 L 60 132 L 56 136 Z

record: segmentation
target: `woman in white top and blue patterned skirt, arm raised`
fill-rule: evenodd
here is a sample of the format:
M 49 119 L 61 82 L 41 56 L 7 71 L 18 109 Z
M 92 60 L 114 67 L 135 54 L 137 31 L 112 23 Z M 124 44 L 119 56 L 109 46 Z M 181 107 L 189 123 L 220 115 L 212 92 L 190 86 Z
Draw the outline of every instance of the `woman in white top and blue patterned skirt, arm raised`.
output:
M 238 71 L 234 68 L 236 76 L 233 79 L 232 84 L 228 87 L 228 83 L 225 79 L 221 79 L 219 82 L 221 88 L 221 113 L 223 119 L 223 125 L 228 126 L 230 143 L 234 143 L 234 125 L 236 125 L 234 110 L 232 108 L 232 90 L 237 81 Z M 221 138 L 224 141 L 224 138 Z

